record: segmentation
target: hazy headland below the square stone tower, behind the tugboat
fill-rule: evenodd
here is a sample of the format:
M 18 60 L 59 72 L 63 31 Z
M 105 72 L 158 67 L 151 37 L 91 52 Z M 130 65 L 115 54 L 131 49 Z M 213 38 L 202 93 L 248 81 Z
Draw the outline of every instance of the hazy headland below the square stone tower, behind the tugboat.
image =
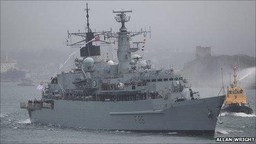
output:
M 255 57 L 247 55 L 220 55 L 196 57 L 193 61 L 184 64 L 181 73 L 187 77 L 193 86 L 198 87 L 221 87 L 221 67 L 225 86 L 230 83 L 230 73 L 236 63 L 238 78 L 246 76 L 241 80 L 241 86 L 246 89 L 255 87 Z M 247 76 L 248 75 L 248 76 Z M 232 78 L 232 77 L 231 77 Z

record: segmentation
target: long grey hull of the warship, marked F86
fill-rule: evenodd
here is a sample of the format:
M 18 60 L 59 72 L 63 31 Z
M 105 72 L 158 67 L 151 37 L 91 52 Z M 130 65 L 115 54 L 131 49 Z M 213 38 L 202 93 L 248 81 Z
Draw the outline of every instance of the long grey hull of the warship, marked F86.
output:
M 29 110 L 32 123 L 85 129 L 214 134 L 225 96 L 171 102 L 54 100 L 54 109 Z

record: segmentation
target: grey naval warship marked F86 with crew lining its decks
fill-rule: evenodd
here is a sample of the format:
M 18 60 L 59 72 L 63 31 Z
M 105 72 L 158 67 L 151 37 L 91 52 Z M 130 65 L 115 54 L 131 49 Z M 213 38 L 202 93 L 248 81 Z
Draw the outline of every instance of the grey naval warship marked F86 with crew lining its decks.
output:
M 146 38 L 151 30 L 127 31 L 130 16 L 126 14 L 131 9 L 113 10 L 116 22 L 121 23 L 118 33 L 92 32 L 88 6 L 85 10 L 87 31 L 68 31 L 68 38 L 83 38 L 74 43 L 67 40 L 69 46 L 80 46 L 76 68 L 52 77 L 44 85 L 41 99 L 20 103 L 20 108 L 28 110 L 31 123 L 94 130 L 215 133 L 225 95 L 201 98 L 174 68 L 156 70 L 151 60 L 132 55 L 145 44 L 145 40 L 132 42 L 132 37 Z M 116 41 L 118 61 L 98 60 L 99 44 Z

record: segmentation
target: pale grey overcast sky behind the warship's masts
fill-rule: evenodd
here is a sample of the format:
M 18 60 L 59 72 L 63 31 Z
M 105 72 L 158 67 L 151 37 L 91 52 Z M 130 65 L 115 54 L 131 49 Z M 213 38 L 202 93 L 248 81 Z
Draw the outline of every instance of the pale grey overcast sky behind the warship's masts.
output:
M 146 48 L 255 56 L 255 1 L 1 1 L 1 51 L 68 49 L 67 30 L 118 31 L 113 9 L 130 8 L 130 31 L 151 25 Z M 160 56 L 159 56 L 160 57 Z

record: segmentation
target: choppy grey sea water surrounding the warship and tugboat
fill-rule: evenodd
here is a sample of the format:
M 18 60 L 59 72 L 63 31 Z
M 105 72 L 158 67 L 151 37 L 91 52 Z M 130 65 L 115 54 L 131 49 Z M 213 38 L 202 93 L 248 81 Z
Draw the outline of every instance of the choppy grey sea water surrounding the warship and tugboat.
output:
M 255 90 L 246 89 L 252 115 L 223 113 L 214 136 L 129 131 L 87 130 L 63 126 L 31 124 L 20 102 L 40 99 L 37 86 L 1 83 L 1 143 L 215 143 L 216 137 L 255 137 Z M 214 97 L 218 88 L 196 88 L 200 97 Z

